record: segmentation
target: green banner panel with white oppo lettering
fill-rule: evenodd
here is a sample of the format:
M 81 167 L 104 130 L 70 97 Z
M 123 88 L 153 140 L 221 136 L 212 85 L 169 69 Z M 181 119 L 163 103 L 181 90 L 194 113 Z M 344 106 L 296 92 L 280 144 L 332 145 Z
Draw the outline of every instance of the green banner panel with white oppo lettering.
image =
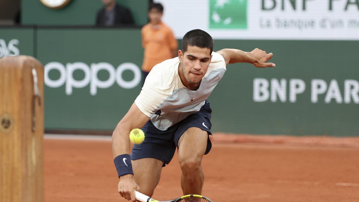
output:
M 141 89 L 139 29 L 38 30 L 45 126 L 113 130 Z

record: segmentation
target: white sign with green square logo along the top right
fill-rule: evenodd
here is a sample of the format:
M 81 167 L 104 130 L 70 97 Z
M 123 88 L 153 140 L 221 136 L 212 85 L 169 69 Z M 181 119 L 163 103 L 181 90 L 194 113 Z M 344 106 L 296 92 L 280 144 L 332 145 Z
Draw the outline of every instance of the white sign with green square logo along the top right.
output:
M 215 39 L 359 40 L 359 0 L 158 0 L 182 38 L 202 29 Z

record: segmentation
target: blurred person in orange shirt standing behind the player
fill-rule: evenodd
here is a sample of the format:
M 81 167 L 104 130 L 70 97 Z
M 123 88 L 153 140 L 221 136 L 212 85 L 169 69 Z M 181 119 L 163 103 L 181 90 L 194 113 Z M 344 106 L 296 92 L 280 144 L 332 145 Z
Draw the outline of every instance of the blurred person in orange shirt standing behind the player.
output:
M 162 15 L 162 4 L 151 4 L 148 12 L 150 22 L 141 29 L 142 46 L 145 49 L 142 64 L 143 83 L 153 66 L 177 56 L 178 42 L 172 30 L 161 21 Z

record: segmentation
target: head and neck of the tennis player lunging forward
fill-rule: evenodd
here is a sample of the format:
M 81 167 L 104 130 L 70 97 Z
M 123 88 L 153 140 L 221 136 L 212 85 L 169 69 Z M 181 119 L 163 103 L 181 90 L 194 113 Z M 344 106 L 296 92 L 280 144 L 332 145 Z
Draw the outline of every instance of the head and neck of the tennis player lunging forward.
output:
M 195 89 L 200 85 L 211 62 L 212 51 L 213 39 L 207 32 L 194 29 L 183 36 L 178 58 L 180 77 L 186 87 Z

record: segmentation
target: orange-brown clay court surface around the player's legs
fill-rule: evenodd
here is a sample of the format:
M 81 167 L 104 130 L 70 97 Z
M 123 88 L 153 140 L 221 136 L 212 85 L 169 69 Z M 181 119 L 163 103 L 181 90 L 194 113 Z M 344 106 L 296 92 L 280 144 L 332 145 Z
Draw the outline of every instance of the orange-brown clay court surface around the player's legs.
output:
M 359 202 L 359 146 L 354 144 L 358 139 L 339 144 L 328 143 L 330 139 L 273 139 L 214 139 L 202 162 L 202 195 L 214 202 Z M 47 137 L 44 144 L 46 202 L 127 201 L 117 193 L 109 139 Z M 182 196 L 180 177 L 175 155 L 163 168 L 153 198 Z

